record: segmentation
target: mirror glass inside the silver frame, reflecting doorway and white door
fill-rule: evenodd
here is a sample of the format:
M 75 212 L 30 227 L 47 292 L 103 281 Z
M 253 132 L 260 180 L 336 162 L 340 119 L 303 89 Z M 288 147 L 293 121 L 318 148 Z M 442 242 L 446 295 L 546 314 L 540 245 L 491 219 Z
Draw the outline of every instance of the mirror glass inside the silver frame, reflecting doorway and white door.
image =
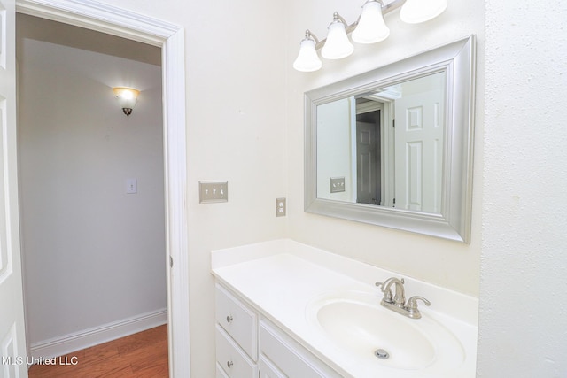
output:
M 317 106 L 317 197 L 440 213 L 445 71 Z

